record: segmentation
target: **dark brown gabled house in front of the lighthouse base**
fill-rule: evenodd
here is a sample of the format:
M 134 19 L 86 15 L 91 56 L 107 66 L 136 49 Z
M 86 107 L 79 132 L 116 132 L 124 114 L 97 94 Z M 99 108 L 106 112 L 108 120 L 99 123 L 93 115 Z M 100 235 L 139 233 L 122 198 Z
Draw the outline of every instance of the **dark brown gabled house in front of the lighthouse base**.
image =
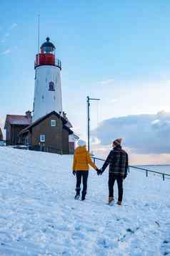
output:
M 74 153 L 74 148 L 69 143 L 69 136 L 73 131 L 66 125 L 68 122 L 61 115 L 52 111 L 31 123 L 19 133 L 20 140 L 31 150 L 47 151 L 51 153 Z

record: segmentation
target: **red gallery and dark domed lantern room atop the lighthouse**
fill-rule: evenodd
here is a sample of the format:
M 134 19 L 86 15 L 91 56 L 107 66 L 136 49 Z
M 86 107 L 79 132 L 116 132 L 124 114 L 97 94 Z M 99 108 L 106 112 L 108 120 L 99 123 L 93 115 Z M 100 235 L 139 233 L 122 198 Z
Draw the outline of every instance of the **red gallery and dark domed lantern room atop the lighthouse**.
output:
M 61 70 L 61 61 L 55 58 L 56 47 L 49 40 L 49 37 L 46 37 L 46 42 L 41 45 L 41 53 L 36 54 L 36 61 L 34 67 L 36 68 L 41 65 L 52 65 L 59 67 L 59 69 Z

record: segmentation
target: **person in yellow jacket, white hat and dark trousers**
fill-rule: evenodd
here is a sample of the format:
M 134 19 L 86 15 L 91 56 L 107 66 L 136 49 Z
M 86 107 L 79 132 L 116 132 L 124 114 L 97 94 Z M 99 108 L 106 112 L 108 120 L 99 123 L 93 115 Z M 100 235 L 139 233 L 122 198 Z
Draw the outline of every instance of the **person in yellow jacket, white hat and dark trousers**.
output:
M 81 200 L 84 201 L 87 189 L 87 179 L 89 175 L 89 165 L 98 171 L 97 166 L 91 161 L 91 156 L 86 150 L 86 142 L 79 140 L 78 147 L 74 151 L 73 174 L 76 175 L 76 196 L 79 199 L 81 190 L 81 179 L 83 179 L 83 191 Z

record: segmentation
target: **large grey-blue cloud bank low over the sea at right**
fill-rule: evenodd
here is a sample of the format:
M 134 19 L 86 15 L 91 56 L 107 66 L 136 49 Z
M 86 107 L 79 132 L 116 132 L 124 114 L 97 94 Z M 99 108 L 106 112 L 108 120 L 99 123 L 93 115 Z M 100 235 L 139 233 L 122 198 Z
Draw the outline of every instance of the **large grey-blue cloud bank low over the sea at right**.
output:
M 170 153 L 170 113 L 161 111 L 156 115 L 127 115 L 104 120 L 91 133 L 101 146 L 111 144 L 115 138 L 123 137 L 124 146 L 132 153 Z

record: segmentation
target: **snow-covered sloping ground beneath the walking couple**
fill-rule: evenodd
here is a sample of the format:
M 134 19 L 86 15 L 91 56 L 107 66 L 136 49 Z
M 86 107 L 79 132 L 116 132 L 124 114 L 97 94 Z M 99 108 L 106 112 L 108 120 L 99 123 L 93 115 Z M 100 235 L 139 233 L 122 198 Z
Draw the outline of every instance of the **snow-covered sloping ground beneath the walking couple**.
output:
M 71 165 L 72 156 L 0 148 L 0 255 L 170 255 L 170 180 L 131 171 L 124 205 L 109 207 L 108 171 L 90 171 L 81 202 Z

